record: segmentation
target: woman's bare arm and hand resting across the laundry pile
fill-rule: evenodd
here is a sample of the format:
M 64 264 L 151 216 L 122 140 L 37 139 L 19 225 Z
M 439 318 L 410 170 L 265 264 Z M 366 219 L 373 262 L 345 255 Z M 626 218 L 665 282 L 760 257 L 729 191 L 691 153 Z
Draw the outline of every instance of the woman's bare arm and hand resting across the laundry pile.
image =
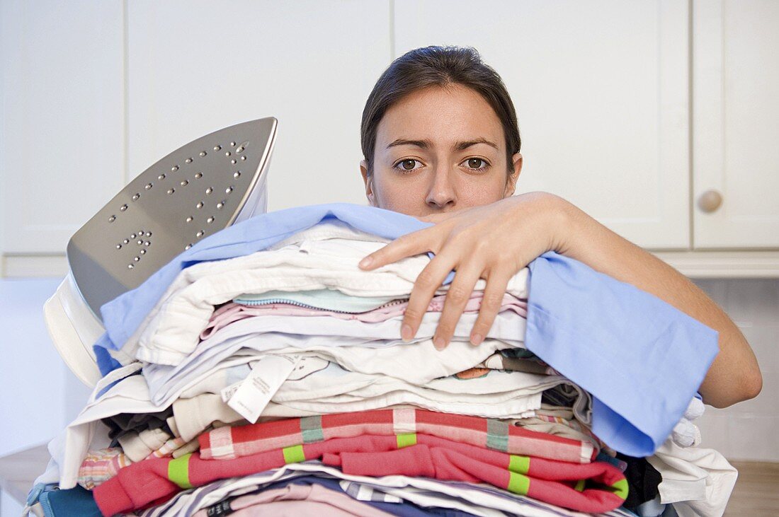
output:
M 730 318 L 691 281 L 663 261 L 601 225 L 568 201 L 544 192 L 507 197 L 492 204 L 421 218 L 434 226 L 395 239 L 361 262 L 375 269 L 432 251 L 435 257 L 414 282 L 401 337 L 417 333 L 425 310 L 449 271 L 457 274 L 433 343 L 449 343 L 479 278 L 487 285 L 471 342 L 492 327 L 509 278 L 542 253 L 554 250 L 649 292 L 719 333 L 720 353 L 700 386 L 703 401 L 726 407 L 757 396 L 763 386 L 755 355 Z

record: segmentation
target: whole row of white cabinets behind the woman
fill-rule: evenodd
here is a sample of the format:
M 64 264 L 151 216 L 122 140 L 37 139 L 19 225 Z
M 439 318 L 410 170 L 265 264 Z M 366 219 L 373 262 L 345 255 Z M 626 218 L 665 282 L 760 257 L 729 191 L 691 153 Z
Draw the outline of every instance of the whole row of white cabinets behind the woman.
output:
M 518 191 L 685 272 L 779 276 L 777 26 L 770 0 L 0 0 L 0 276 L 65 271 L 128 180 L 259 117 L 280 120 L 271 210 L 365 203 L 365 100 L 429 44 L 474 46 L 506 81 Z

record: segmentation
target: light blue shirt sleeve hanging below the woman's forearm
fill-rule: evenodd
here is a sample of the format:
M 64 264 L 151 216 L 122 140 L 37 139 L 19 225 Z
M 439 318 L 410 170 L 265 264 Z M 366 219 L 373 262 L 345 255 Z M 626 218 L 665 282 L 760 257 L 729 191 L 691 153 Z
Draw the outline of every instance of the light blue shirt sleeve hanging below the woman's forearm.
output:
M 557 253 L 530 264 L 525 344 L 593 396 L 593 431 L 649 456 L 717 355 L 718 334 L 661 299 Z

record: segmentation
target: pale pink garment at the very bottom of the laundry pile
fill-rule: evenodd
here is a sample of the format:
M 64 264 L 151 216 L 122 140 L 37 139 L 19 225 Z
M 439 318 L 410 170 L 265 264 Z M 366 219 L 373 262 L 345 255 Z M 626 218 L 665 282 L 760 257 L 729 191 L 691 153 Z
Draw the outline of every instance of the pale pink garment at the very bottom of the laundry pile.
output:
M 289 484 L 286 487 L 241 495 L 230 501 L 231 515 L 249 517 L 255 515 L 365 515 L 386 517 L 390 515 L 378 508 L 366 505 L 347 494 L 338 493 L 321 485 Z M 208 508 L 196 512 L 195 517 L 208 517 Z

